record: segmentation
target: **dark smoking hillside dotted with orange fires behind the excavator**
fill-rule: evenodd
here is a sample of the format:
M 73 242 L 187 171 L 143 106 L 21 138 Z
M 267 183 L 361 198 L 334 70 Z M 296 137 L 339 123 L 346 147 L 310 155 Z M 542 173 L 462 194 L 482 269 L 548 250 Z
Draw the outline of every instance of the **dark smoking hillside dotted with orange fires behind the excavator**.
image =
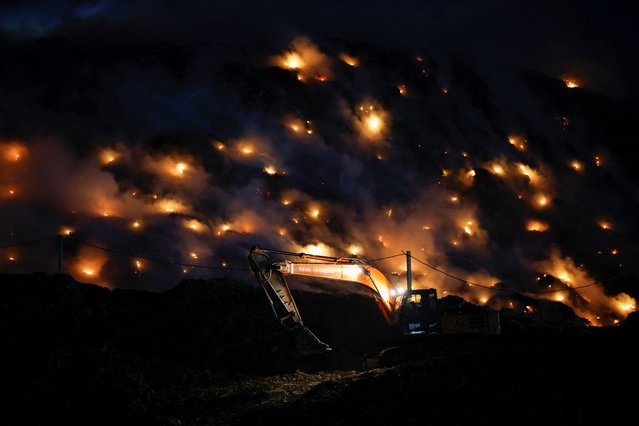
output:
M 253 245 L 410 250 L 415 287 L 440 296 L 508 307 L 525 294 L 593 325 L 636 310 L 624 233 L 636 200 L 620 200 L 633 185 L 612 146 L 627 133 L 607 127 L 624 120 L 600 124 L 581 105 L 608 101 L 560 77 L 497 79 L 461 59 L 306 36 L 243 63 L 154 45 L 115 49 L 106 66 L 48 43 L 88 59 L 19 111 L 27 83 L 4 72 L 0 235 L 7 246 L 63 235 L 80 281 L 252 279 Z M 0 249 L 0 269 L 52 272 L 56 244 Z M 404 285 L 403 257 L 376 266 Z

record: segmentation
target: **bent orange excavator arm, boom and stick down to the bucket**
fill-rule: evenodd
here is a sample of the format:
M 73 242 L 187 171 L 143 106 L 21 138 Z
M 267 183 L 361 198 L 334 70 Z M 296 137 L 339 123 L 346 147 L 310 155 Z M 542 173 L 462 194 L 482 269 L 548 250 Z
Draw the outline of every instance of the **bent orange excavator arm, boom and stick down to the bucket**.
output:
M 276 262 L 267 253 L 296 256 L 308 260 Z M 322 353 L 331 349 L 304 325 L 284 275 L 301 275 L 362 284 L 372 290 L 384 318 L 389 324 L 392 321 L 390 291 L 392 285 L 382 272 L 362 259 L 334 258 L 258 247 L 253 247 L 248 257 L 251 269 L 271 302 L 275 316 L 287 330 L 296 334 L 298 350 L 302 353 Z

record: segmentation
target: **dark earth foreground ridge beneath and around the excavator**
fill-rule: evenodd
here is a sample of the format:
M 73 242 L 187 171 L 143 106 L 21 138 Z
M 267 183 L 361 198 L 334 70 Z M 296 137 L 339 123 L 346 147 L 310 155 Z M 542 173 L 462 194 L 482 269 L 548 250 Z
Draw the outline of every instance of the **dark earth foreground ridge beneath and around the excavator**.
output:
M 632 415 L 636 314 L 603 329 L 503 311 L 500 336 L 401 342 L 370 297 L 295 297 L 331 353 L 295 356 L 262 290 L 230 279 L 149 293 L 0 275 L 3 424 L 610 424 Z

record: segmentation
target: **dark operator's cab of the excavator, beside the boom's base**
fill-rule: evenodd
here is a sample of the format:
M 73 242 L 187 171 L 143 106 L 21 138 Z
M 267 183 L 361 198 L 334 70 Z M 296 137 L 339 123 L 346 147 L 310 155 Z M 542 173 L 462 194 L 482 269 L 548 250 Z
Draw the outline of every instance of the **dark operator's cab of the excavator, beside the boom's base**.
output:
M 441 333 L 437 290 L 434 288 L 404 293 L 396 315 L 399 331 L 404 336 Z

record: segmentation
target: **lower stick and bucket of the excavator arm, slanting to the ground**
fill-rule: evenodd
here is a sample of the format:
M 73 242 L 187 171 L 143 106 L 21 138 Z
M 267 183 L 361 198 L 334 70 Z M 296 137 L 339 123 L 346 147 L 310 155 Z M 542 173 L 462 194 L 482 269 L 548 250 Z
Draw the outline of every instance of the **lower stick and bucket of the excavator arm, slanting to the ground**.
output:
M 309 330 L 302 321 L 293 295 L 281 272 L 273 268 L 275 262 L 266 253 L 253 248 L 249 253 L 249 264 L 271 302 L 275 317 L 295 335 L 297 350 L 304 355 L 325 353 L 331 348 Z

